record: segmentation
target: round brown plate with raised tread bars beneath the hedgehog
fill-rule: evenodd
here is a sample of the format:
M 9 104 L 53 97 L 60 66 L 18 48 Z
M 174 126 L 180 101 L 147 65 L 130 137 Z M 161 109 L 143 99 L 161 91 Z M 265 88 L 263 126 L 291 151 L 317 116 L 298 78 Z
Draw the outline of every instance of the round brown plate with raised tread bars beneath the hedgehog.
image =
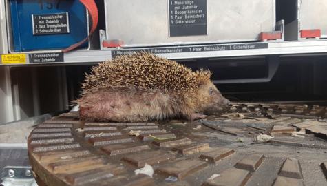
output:
M 327 185 L 326 107 L 232 105 L 200 121 L 85 123 L 78 114 L 54 116 L 28 138 L 34 177 L 49 186 Z M 257 140 L 264 134 L 270 141 Z M 144 167 L 151 176 L 136 174 Z

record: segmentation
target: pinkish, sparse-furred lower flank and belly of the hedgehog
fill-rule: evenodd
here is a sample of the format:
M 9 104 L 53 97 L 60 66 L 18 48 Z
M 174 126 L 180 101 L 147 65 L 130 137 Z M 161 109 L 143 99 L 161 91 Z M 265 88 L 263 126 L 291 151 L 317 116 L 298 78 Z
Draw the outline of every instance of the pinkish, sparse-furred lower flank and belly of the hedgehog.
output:
M 193 113 L 178 94 L 165 90 L 114 88 L 84 94 L 80 105 L 81 119 L 86 121 L 139 122 L 161 120 Z

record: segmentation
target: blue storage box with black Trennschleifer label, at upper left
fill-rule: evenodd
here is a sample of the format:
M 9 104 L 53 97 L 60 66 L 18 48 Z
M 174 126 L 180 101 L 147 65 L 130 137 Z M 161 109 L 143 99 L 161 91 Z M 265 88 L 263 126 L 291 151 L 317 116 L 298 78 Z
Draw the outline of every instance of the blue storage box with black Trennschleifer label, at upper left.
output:
M 14 44 L 11 52 L 63 49 L 88 35 L 87 11 L 78 0 L 9 2 Z M 88 46 L 85 41 L 79 48 Z

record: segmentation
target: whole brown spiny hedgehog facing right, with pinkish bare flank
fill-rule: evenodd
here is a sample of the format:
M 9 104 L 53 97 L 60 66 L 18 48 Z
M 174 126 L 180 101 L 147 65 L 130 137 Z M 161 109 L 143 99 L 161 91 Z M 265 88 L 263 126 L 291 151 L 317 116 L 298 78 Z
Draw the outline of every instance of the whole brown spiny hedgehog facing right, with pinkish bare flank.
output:
M 212 72 L 193 72 L 164 57 L 136 52 L 118 56 L 85 73 L 79 106 L 85 121 L 196 120 L 203 112 L 229 107 L 211 81 Z

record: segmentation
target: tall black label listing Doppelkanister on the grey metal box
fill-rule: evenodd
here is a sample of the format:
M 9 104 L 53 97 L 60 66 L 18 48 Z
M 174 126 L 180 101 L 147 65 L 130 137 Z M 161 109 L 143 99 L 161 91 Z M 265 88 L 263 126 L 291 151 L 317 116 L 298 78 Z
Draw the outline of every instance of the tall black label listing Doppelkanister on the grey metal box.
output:
M 169 37 L 207 34 L 207 0 L 169 0 Z

